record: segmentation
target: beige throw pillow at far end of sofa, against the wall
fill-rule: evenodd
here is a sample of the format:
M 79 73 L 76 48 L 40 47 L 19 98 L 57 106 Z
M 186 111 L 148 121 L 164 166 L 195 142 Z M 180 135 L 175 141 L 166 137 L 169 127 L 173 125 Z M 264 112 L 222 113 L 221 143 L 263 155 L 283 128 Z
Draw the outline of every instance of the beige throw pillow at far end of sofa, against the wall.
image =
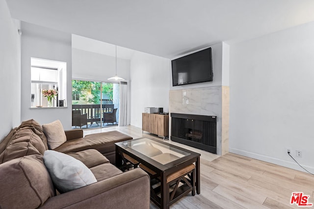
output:
M 44 124 L 43 131 L 47 137 L 50 149 L 54 149 L 67 141 L 63 126 L 59 120 L 53 121 L 50 124 Z

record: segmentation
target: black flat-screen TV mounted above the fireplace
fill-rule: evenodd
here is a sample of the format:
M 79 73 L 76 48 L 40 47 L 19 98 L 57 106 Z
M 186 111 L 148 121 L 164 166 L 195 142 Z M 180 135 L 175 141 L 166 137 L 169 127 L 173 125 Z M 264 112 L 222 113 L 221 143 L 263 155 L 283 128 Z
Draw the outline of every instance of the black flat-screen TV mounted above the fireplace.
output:
M 212 81 L 211 48 L 171 61 L 172 86 Z

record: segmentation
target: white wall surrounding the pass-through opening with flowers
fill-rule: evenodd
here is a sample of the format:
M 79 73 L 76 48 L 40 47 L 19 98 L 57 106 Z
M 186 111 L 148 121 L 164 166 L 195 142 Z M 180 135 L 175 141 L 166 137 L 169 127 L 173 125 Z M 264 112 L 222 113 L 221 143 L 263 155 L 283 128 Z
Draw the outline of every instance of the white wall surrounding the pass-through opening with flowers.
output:
M 71 34 L 22 22 L 22 121 L 34 119 L 40 124 L 60 120 L 64 129 L 72 123 L 72 46 Z M 67 63 L 67 108 L 30 109 L 30 58 Z

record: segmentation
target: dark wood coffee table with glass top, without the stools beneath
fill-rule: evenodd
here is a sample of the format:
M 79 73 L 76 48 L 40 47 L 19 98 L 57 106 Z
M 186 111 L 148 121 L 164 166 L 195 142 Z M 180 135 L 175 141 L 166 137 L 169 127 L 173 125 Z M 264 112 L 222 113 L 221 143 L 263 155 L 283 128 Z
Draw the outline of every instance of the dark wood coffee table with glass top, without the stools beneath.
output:
M 151 200 L 161 209 L 169 208 L 167 176 L 195 163 L 195 187 L 200 194 L 200 156 L 201 154 L 174 146 L 157 139 L 139 138 L 115 143 L 116 166 L 122 166 L 122 156 L 127 155 L 139 164 L 156 172 L 160 180 L 160 201 L 152 195 Z M 152 189 L 152 188 L 151 188 Z M 181 195 L 182 196 L 182 195 Z M 180 196 L 180 197 L 181 197 Z

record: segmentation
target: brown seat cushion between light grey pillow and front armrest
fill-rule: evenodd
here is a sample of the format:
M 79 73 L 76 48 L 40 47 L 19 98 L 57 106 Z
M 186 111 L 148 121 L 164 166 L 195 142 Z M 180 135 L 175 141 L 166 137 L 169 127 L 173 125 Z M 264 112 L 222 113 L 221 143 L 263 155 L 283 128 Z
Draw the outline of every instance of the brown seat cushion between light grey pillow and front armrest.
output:
M 90 170 L 93 172 L 98 182 L 122 173 L 120 169 L 110 163 L 91 167 Z

